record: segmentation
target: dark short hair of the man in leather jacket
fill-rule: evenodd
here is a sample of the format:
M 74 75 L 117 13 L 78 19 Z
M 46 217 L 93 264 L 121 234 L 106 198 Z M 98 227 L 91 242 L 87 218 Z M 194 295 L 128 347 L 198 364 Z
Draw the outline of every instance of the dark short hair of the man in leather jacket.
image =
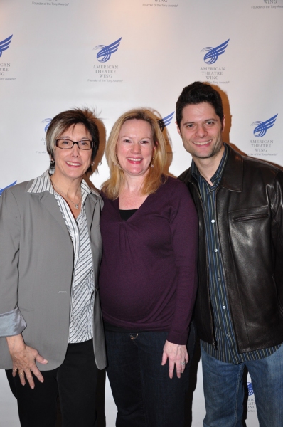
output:
M 208 102 L 214 108 L 215 114 L 218 115 L 221 123 L 223 123 L 223 104 L 218 91 L 208 83 L 194 82 L 183 88 L 181 95 L 178 97 L 176 103 L 176 122 L 178 127 L 180 127 L 183 118 L 183 108 L 186 105 L 201 104 L 201 102 Z

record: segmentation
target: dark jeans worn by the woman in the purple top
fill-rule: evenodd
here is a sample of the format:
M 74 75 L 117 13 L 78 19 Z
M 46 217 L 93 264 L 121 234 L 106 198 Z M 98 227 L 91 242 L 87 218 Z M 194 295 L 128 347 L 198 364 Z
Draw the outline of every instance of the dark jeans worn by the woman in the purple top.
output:
M 107 375 L 118 408 L 117 427 L 183 427 L 190 364 L 181 379 L 161 366 L 168 332 L 106 331 Z M 188 354 L 193 357 L 191 327 Z

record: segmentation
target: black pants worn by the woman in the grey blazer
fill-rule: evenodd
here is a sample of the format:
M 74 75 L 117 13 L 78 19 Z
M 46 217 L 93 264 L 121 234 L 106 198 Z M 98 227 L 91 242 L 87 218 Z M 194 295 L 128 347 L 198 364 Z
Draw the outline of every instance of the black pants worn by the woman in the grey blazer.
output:
M 18 401 L 22 427 L 53 427 L 59 394 L 64 427 L 95 426 L 95 388 L 97 367 L 92 339 L 68 344 L 63 364 L 52 371 L 41 371 L 44 382 L 33 376 L 35 388 L 22 386 L 12 370 L 6 371 L 11 391 Z

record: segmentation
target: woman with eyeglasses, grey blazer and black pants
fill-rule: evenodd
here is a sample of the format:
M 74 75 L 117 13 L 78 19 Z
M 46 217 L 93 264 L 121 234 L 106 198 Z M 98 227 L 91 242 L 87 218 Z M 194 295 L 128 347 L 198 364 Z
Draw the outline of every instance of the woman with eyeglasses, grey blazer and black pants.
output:
M 106 364 L 97 294 L 102 199 L 83 180 L 99 147 L 95 115 L 68 110 L 46 133 L 50 169 L 0 197 L 0 367 L 21 426 L 95 423 Z

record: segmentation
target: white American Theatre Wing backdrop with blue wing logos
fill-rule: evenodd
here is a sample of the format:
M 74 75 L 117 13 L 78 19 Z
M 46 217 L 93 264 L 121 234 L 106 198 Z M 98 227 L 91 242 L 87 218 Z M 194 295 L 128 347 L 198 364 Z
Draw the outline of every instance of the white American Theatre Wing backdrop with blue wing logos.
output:
M 164 119 L 169 172 L 178 176 L 191 157 L 174 110 L 195 80 L 220 90 L 226 142 L 283 165 L 282 22 L 283 0 L 0 0 L 0 194 L 47 169 L 46 128 L 70 107 L 95 108 L 105 127 L 95 186 L 108 177 L 105 137 L 132 107 L 150 107 Z M 247 426 L 257 427 L 247 381 Z M 18 426 L 3 371 L 0 390 L 0 424 Z M 105 400 L 111 427 L 116 408 L 108 384 Z M 203 414 L 199 364 L 193 426 L 202 426 Z

